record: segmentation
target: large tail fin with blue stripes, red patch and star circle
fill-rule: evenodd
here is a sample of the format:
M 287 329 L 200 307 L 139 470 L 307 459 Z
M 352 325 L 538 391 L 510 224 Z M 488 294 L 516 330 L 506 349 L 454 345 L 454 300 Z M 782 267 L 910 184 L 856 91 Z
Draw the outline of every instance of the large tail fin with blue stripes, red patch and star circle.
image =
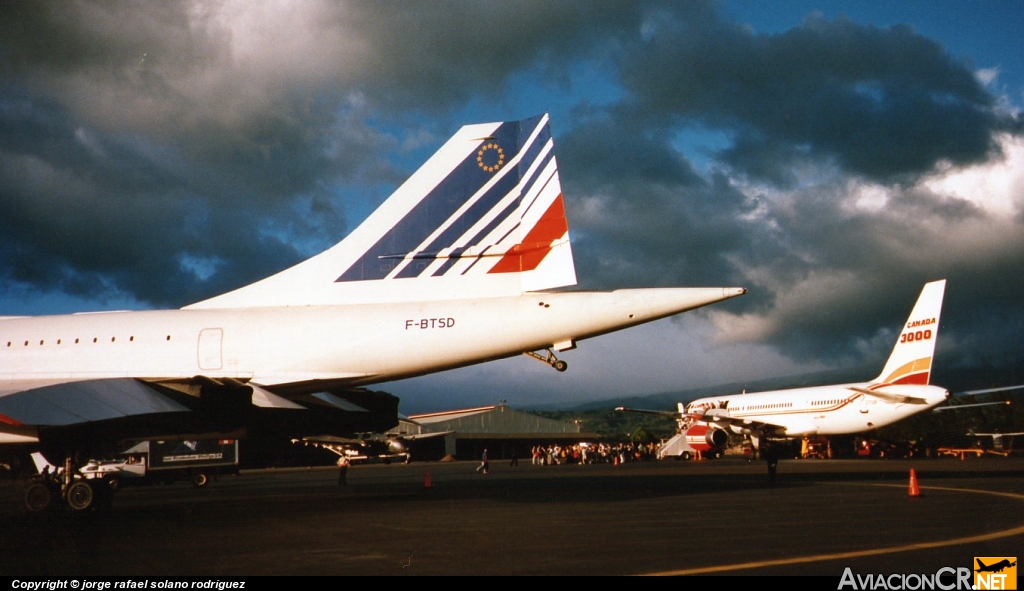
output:
M 542 115 L 463 127 L 342 242 L 187 307 L 487 297 L 574 284 Z

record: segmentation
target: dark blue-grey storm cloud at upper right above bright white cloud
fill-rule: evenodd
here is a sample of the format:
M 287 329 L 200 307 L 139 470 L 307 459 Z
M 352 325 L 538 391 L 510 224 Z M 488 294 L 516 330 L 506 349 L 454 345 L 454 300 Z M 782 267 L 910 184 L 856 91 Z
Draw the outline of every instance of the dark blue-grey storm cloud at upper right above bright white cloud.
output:
M 986 160 L 993 132 L 1016 125 L 971 65 L 909 27 L 810 15 L 762 35 L 667 12 L 647 27 L 621 69 L 634 107 L 659 124 L 733 130 L 723 159 L 756 178 L 792 183 L 785 169 L 803 149 L 873 179 L 916 176 Z

